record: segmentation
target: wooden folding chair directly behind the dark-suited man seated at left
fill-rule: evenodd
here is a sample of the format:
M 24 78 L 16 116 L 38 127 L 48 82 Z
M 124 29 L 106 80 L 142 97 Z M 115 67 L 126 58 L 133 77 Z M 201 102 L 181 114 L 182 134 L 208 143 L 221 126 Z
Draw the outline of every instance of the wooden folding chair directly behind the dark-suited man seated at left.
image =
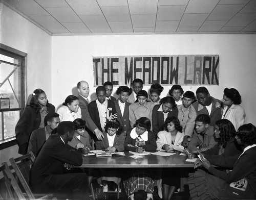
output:
M 32 193 L 29 187 L 29 176 L 30 170 L 32 167 L 33 162 L 35 161 L 35 156 L 32 152 L 24 156 L 20 156 L 18 158 L 10 158 L 10 163 L 12 168 L 15 171 L 15 175 L 22 187 L 24 188 L 24 192 L 26 196 L 28 196 L 29 200 L 35 199 L 40 197 L 40 199 L 47 199 L 48 197 L 53 198 L 53 194 L 38 194 Z

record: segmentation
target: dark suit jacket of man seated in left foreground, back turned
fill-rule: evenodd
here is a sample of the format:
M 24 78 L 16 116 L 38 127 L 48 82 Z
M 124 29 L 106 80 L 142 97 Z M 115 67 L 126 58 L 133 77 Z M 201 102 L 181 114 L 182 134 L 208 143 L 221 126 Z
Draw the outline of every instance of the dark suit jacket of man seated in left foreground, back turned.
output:
M 30 171 L 32 191 L 51 191 L 48 183 L 54 175 L 63 174 L 63 164 L 82 164 L 82 152 L 63 143 L 58 134 L 51 135 L 42 146 Z

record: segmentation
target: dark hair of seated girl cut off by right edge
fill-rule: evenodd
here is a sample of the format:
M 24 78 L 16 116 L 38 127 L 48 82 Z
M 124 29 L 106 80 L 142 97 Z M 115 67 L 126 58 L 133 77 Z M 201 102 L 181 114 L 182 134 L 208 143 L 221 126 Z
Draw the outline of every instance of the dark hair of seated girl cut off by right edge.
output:
M 256 144 L 256 127 L 251 123 L 243 124 L 238 128 L 237 137 L 244 144 Z

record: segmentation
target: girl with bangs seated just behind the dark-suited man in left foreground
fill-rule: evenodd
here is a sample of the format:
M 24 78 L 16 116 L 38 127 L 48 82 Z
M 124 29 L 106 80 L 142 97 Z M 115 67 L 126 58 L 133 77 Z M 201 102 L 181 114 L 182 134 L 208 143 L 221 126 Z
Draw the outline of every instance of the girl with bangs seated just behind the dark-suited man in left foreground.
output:
M 82 148 L 91 150 L 92 146 L 90 140 L 92 139 L 89 133 L 86 131 L 86 121 L 78 118 L 75 119 L 73 122 L 75 127 L 75 134 L 73 136 L 73 139 L 68 142 L 68 144 L 77 149 Z

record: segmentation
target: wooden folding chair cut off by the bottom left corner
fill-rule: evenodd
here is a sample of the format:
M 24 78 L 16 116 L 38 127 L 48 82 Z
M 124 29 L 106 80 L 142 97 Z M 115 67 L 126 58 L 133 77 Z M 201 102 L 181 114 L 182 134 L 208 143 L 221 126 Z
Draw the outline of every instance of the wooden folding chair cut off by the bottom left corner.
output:
M 26 199 L 6 162 L 0 165 L 0 199 Z

